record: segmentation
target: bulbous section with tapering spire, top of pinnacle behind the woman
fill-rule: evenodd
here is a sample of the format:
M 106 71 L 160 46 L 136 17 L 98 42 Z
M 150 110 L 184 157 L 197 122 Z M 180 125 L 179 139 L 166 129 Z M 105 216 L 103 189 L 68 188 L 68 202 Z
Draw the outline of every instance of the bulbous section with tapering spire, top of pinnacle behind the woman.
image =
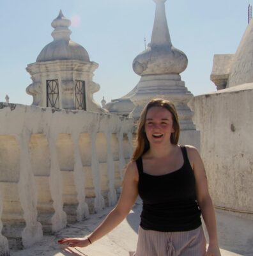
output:
M 180 74 L 187 68 L 187 56 L 171 43 L 165 14 L 165 0 L 154 1 L 156 11 L 150 47 L 134 59 L 134 72 L 139 76 Z

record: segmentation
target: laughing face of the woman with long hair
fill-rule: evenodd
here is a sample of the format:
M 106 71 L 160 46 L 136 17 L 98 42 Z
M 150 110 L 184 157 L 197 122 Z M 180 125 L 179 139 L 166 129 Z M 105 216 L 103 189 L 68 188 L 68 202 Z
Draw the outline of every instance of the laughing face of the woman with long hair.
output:
M 144 129 L 150 144 L 171 143 L 174 132 L 173 116 L 169 110 L 160 106 L 148 109 Z

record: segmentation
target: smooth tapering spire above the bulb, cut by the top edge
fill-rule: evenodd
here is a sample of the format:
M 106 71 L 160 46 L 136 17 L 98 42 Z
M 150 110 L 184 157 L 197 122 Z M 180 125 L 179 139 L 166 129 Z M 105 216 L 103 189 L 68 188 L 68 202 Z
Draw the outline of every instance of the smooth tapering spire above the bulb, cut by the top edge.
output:
M 166 0 L 153 0 L 157 6 L 155 9 L 155 21 L 151 36 L 151 47 L 158 45 L 167 45 L 169 47 L 171 44 L 171 36 L 169 35 L 169 28 L 167 25 L 167 19 L 165 14 L 165 1 Z

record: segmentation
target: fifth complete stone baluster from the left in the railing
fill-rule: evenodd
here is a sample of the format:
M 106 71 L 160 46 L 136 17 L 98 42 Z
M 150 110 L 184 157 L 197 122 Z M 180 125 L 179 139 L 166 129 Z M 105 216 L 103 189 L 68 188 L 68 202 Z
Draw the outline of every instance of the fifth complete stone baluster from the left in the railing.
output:
M 112 134 L 110 131 L 105 132 L 106 140 L 107 140 L 107 175 L 109 181 L 109 191 L 108 191 L 108 201 L 109 206 L 114 205 L 117 201 L 117 194 L 114 188 L 114 163 L 113 163 L 113 156 L 112 156 Z

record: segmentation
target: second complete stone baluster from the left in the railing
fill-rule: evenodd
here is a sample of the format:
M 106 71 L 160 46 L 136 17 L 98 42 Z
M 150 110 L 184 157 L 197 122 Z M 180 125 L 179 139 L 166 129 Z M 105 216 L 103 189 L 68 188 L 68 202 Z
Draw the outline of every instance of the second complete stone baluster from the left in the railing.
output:
M 61 170 L 57 156 L 56 140 L 57 134 L 47 134 L 50 151 L 50 191 L 54 207 L 54 215 L 52 216 L 52 232 L 57 232 L 61 228 L 66 227 L 66 212 L 63 211 L 63 188 Z

